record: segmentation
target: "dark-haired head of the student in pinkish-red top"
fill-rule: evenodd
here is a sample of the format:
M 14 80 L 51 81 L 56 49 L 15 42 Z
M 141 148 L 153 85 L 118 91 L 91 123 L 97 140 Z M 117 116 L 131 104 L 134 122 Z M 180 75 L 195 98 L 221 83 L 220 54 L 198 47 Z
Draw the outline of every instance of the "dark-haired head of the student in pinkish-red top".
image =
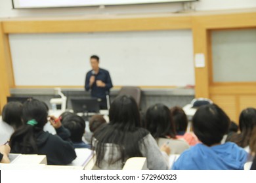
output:
M 176 132 L 186 131 L 186 128 L 188 127 L 188 118 L 186 117 L 184 110 L 181 107 L 173 107 L 171 108 L 171 116 L 173 117 Z

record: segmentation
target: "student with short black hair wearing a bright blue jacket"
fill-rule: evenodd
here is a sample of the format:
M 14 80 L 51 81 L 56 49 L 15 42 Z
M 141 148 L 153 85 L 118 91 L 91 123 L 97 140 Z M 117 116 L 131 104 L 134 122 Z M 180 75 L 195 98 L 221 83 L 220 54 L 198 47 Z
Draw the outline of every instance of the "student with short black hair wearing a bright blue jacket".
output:
M 204 105 L 192 120 L 194 133 L 202 144 L 196 144 L 181 154 L 175 170 L 242 170 L 247 152 L 233 142 L 221 144 L 230 119 L 217 105 Z

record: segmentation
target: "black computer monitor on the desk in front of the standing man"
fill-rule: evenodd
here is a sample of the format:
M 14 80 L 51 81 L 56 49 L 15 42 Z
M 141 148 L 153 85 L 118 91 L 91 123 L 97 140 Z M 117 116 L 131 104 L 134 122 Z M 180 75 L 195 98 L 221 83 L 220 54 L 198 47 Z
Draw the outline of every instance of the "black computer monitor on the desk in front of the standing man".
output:
M 100 112 L 100 104 L 96 98 L 70 99 L 74 113 L 78 112 Z

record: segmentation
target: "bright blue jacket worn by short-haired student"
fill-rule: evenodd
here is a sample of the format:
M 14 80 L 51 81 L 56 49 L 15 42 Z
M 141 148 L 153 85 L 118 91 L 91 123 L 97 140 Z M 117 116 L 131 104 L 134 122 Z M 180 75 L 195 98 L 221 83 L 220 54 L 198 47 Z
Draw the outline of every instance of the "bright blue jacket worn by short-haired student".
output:
M 233 142 L 216 146 L 196 144 L 173 164 L 174 170 L 242 170 L 247 152 Z

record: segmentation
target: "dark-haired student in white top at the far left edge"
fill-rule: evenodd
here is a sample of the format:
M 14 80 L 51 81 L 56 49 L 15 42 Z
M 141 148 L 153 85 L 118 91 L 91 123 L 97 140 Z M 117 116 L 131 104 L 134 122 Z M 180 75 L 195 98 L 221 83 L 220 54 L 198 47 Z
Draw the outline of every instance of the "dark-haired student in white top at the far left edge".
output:
M 3 107 L 0 119 L 0 145 L 9 141 L 15 129 L 22 125 L 22 103 L 9 102 Z

